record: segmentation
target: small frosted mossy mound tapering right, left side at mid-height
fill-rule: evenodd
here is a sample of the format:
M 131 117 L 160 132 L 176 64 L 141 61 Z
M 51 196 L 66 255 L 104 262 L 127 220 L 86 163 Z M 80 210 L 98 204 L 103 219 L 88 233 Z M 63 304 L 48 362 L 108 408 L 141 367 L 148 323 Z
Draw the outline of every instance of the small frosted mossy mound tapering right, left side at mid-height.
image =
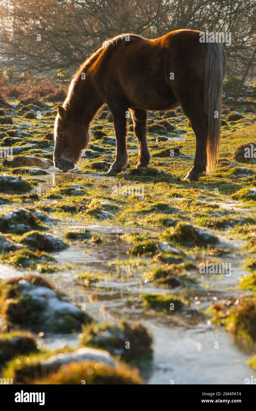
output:
M 62 251 L 68 247 L 68 245 L 60 240 L 60 238 L 54 237 L 48 233 L 42 234 L 38 231 L 32 231 L 28 234 L 24 234 L 21 238 L 21 244 L 25 244 L 33 251 Z

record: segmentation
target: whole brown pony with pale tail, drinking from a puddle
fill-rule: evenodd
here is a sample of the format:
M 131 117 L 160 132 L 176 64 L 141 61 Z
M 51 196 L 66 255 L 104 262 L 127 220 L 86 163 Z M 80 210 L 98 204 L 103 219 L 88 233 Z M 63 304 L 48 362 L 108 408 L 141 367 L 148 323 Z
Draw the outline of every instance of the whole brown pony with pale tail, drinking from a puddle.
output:
M 113 115 L 116 138 L 109 171 L 118 173 L 127 165 L 128 110 L 138 139 L 137 167 L 146 167 L 147 110 L 181 105 L 196 135 L 194 166 L 186 178 L 193 181 L 204 171 L 212 173 L 219 154 L 226 55 L 222 44 L 199 38 L 199 31 L 175 30 L 154 40 L 123 34 L 104 42 L 74 74 L 67 98 L 58 106 L 55 167 L 74 168 L 88 146 L 90 122 L 104 104 Z

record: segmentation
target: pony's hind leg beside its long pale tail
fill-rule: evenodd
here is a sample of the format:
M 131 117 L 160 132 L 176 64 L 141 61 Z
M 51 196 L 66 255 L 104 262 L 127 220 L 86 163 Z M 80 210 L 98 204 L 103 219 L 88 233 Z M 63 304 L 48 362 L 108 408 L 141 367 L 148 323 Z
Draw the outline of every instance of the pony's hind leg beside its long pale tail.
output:
M 190 181 L 197 181 L 201 173 L 206 170 L 208 117 L 203 109 L 203 97 L 196 100 L 194 98 L 180 99 L 180 104 L 184 113 L 189 118 L 191 127 L 196 135 L 196 153 L 194 158 L 194 166 L 189 171 L 184 180 L 189 179 Z

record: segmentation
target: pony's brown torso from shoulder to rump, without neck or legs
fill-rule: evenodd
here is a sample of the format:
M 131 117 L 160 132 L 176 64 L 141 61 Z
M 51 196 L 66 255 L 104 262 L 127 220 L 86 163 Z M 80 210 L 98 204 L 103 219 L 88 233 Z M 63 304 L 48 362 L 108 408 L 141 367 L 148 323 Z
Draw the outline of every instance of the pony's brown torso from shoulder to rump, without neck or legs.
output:
M 108 40 L 96 71 L 102 94 L 108 99 L 123 95 L 131 107 L 171 107 L 177 102 L 176 85 L 185 82 L 189 71 L 203 76 L 205 44 L 199 33 L 175 30 L 157 39 L 124 34 Z

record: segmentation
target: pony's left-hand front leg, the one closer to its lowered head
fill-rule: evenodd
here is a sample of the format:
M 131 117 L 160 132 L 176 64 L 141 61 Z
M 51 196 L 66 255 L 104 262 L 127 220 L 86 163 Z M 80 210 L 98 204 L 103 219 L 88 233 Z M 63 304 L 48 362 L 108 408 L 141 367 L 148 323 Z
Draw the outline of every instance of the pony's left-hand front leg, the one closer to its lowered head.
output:
M 127 134 L 127 118 L 126 113 L 127 108 L 120 107 L 118 109 L 111 108 L 111 113 L 114 120 L 114 129 L 115 129 L 115 139 L 116 139 L 116 153 L 115 161 L 111 165 L 108 173 L 120 173 L 127 166 L 128 161 L 128 152 L 126 145 L 126 134 Z

